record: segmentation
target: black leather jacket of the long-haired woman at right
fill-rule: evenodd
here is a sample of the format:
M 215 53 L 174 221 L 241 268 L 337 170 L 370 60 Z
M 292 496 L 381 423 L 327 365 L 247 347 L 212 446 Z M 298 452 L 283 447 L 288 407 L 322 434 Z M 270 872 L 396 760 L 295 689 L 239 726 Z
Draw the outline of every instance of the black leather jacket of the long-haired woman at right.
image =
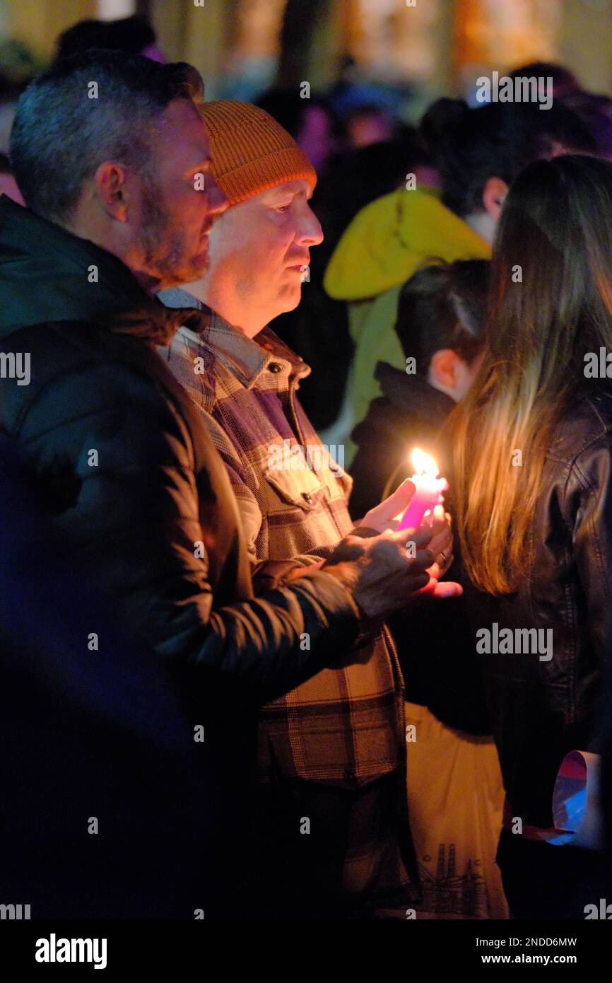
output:
M 494 598 L 466 576 L 463 582 L 472 644 L 477 640 L 482 649 L 486 636 L 476 633 L 493 632 L 494 622 L 498 632 L 513 631 L 514 654 L 480 656 L 487 702 L 512 815 L 547 827 L 563 757 L 575 748 L 597 749 L 601 670 L 612 652 L 611 383 L 586 383 L 560 421 L 533 533 L 535 559 L 518 593 Z M 517 646 L 519 628 L 541 629 L 550 653 L 543 644 L 533 651 L 527 639 Z

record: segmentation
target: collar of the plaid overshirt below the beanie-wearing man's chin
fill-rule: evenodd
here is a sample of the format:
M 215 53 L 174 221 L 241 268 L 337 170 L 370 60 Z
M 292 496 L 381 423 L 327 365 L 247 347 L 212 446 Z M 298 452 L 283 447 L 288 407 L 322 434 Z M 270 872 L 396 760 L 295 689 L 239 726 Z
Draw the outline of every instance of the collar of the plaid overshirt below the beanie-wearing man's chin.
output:
M 256 338 L 248 338 L 182 288 L 164 290 L 159 299 L 163 304 L 180 305 L 183 309 L 192 306 L 200 312 L 202 317 L 199 323 L 192 327 L 185 325 L 181 328 L 181 334 L 220 359 L 246 389 L 256 386 L 262 374 L 270 371 L 276 372 L 279 381 L 281 378 L 289 382 L 309 376 L 310 368 L 306 362 L 292 352 L 270 327 L 264 327 Z M 275 365 L 280 366 L 280 370 L 270 369 Z

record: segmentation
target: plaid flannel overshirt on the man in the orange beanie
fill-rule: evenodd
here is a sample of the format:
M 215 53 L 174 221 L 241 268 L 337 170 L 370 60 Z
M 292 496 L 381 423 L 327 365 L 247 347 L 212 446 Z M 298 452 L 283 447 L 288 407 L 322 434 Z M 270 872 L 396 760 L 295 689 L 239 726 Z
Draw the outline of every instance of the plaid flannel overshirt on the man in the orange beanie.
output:
M 251 340 L 183 290 L 161 299 L 207 314 L 201 332 L 182 327 L 160 353 L 204 413 L 253 564 L 324 557 L 353 528 L 352 479 L 320 452 L 296 397 L 309 368 L 269 328 Z M 388 632 L 264 707 L 258 748 L 260 781 L 280 773 L 356 788 L 402 769 L 403 680 Z

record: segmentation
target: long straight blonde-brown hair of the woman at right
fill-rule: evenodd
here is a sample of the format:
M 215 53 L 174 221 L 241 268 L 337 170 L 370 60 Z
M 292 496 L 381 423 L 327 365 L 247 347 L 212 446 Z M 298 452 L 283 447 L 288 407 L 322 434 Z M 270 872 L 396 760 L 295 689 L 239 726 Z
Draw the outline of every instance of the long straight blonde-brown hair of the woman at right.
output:
M 490 594 L 517 590 L 556 423 L 612 351 L 612 163 L 539 160 L 514 182 L 491 262 L 487 350 L 447 424 L 466 569 Z

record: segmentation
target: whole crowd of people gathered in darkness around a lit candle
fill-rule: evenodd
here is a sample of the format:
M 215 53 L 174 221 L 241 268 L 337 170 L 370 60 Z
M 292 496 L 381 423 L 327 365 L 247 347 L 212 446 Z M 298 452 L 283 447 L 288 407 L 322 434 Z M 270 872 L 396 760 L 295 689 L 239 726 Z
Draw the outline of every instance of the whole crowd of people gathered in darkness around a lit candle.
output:
M 140 16 L 0 77 L 0 867 L 32 918 L 610 890 L 612 99 L 527 77 L 545 112 L 415 126 L 346 83 L 209 100 Z M 405 528 L 415 447 L 447 484 Z M 596 837 L 553 808 L 572 752 Z

